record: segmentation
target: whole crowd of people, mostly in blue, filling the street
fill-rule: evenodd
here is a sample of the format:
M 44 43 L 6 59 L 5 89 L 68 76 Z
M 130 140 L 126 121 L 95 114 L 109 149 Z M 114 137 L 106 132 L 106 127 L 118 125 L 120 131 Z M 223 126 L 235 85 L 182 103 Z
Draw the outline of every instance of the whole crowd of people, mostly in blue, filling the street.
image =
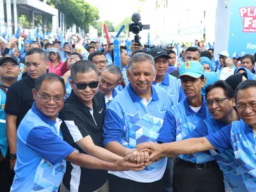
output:
M 0 40 L 0 191 L 256 191 L 256 54 L 25 40 Z

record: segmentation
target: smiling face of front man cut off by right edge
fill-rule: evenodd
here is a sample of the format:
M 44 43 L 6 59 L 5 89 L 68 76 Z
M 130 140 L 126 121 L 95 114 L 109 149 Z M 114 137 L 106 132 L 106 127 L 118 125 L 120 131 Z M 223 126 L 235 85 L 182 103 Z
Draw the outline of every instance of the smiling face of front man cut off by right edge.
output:
M 247 125 L 256 131 L 256 87 L 241 89 L 237 92 L 237 107 L 247 105 L 243 110 L 238 109 L 238 115 Z M 248 106 L 250 105 L 250 107 Z

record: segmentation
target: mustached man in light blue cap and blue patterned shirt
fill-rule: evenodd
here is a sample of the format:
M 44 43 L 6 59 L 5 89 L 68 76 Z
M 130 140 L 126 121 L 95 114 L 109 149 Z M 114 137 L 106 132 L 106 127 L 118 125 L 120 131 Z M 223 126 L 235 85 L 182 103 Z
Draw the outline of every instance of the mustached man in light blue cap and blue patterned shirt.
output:
M 211 115 L 205 106 L 201 88 L 205 86 L 204 68 L 199 61 L 180 66 L 179 77 L 186 99 L 166 112 L 158 138 L 159 143 L 184 139 Z M 209 179 L 211 178 L 211 179 Z M 209 151 L 179 155 L 173 175 L 174 191 L 224 191 L 223 175 Z

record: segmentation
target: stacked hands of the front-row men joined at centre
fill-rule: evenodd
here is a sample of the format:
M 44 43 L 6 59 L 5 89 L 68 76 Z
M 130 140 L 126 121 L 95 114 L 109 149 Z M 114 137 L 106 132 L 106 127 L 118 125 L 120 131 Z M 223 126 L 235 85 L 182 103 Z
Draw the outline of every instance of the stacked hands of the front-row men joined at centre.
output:
M 160 144 L 153 142 L 140 143 L 133 153 L 116 161 L 118 171 L 120 169 L 122 169 L 121 171 L 142 171 L 146 166 L 162 159 L 161 153 L 162 146 Z

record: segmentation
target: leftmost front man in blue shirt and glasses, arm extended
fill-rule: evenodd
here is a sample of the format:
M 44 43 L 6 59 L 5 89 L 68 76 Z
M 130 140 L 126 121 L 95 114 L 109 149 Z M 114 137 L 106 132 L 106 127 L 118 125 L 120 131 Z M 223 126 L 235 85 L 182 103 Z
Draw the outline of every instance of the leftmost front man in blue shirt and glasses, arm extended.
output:
M 74 151 L 63 141 L 61 120 L 57 118 L 66 94 L 61 77 L 54 73 L 41 75 L 32 91 L 35 103 L 17 131 L 17 162 L 11 191 L 58 191 L 66 171 L 65 159 L 90 169 L 120 171 L 142 166 L 129 163 L 131 155 L 115 163 L 102 161 Z

